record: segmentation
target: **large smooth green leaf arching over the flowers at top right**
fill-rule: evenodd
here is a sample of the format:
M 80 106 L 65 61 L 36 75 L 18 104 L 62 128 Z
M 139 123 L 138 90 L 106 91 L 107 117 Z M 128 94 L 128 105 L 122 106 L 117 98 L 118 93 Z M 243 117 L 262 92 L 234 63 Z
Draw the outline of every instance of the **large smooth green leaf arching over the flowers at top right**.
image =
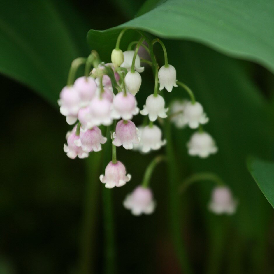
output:
M 161 38 L 197 41 L 227 55 L 258 62 L 274 72 L 272 1 L 161 1 L 153 10 L 118 27 L 90 30 L 89 45 L 98 48 L 100 36 L 107 36 L 106 42 L 114 47 L 118 32 L 125 27 Z

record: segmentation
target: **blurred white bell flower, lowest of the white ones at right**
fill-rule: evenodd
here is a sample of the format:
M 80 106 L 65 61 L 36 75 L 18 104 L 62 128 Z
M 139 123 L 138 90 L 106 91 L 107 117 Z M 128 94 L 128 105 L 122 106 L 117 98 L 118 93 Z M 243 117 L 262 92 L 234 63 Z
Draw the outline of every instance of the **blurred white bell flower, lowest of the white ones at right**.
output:
M 187 147 L 189 155 L 200 158 L 207 158 L 218 151 L 215 141 L 207 132 L 195 132 L 187 143 Z

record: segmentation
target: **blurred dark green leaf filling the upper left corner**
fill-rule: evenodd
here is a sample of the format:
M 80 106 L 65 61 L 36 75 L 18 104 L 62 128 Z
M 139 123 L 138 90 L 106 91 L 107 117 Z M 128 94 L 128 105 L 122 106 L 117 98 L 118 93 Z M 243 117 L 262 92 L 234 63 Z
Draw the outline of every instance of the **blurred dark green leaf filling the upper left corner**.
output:
M 0 72 L 56 104 L 71 61 L 87 53 L 85 29 L 67 1 L 3 1 Z

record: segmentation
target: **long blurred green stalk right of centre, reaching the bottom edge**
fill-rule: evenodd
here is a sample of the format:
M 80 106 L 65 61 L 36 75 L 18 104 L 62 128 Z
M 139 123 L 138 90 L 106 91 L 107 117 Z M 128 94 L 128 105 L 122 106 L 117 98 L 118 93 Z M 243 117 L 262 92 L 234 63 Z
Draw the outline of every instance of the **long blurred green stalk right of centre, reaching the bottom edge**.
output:
M 180 223 L 180 196 L 178 195 L 179 174 L 172 147 L 173 142 L 171 137 L 171 124 L 168 119 L 164 122 L 164 132 L 166 137 L 166 156 L 168 166 L 168 203 L 171 236 L 180 263 L 181 271 L 185 274 L 190 274 L 192 273 L 192 269 L 190 267 L 185 245 L 183 243 Z

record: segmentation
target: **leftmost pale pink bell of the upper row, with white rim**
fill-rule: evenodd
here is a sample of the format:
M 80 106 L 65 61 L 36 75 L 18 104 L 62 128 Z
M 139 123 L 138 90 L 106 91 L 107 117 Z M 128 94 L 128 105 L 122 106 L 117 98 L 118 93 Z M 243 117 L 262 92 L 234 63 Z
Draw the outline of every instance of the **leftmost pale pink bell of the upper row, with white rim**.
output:
M 58 105 L 60 106 L 60 113 L 66 116 L 69 125 L 77 121 L 80 102 L 80 95 L 75 88 L 66 86 L 61 90 Z

